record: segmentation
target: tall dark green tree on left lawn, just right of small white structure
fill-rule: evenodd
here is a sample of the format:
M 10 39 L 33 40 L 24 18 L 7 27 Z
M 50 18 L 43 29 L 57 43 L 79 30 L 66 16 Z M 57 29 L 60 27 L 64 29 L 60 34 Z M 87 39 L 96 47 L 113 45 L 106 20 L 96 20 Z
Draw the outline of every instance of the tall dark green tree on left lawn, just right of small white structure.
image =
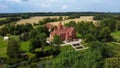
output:
M 7 55 L 11 58 L 20 56 L 20 43 L 17 39 L 10 38 L 8 40 Z

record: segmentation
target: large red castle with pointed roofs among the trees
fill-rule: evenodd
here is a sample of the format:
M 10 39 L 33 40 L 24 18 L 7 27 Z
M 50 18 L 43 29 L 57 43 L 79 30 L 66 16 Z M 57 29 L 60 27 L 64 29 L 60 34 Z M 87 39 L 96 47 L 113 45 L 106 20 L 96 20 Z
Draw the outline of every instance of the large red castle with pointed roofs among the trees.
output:
M 49 26 L 50 27 L 50 26 Z M 60 36 L 63 41 L 72 41 L 76 39 L 76 31 L 74 27 L 64 27 L 62 23 L 59 23 L 54 30 L 50 33 L 50 40 L 53 40 L 54 36 Z

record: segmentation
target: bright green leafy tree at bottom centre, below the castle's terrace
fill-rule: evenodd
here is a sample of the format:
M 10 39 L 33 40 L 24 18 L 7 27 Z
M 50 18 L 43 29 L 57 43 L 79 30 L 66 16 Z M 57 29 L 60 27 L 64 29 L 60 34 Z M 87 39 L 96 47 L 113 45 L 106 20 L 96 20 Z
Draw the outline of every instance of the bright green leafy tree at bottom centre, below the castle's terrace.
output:
M 46 68 L 73 68 L 75 61 L 79 61 L 78 55 L 79 53 L 76 51 L 62 52 Z

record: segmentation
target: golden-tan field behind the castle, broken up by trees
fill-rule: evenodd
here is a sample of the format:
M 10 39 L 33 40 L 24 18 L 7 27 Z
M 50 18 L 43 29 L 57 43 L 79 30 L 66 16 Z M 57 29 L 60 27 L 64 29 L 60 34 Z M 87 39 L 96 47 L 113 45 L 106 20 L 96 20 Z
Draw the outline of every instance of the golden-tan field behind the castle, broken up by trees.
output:
M 31 17 L 30 19 L 22 19 L 20 21 L 17 22 L 17 24 L 25 24 L 25 23 L 38 23 L 39 20 L 42 20 L 44 18 L 47 18 L 47 17 L 50 17 L 50 18 L 56 18 L 56 17 L 59 17 L 59 16 L 36 16 L 36 17 Z M 66 16 L 63 16 L 63 17 L 66 17 Z M 69 19 L 69 20 L 64 20 L 64 21 L 58 21 L 58 22 L 49 22 L 53 25 L 57 25 L 59 22 L 62 22 L 63 24 L 64 23 L 68 23 L 70 21 L 93 21 L 94 23 L 96 23 L 97 21 L 93 20 L 93 16 L 81 16 L 80 18 L 76 18 L 76 19 Z

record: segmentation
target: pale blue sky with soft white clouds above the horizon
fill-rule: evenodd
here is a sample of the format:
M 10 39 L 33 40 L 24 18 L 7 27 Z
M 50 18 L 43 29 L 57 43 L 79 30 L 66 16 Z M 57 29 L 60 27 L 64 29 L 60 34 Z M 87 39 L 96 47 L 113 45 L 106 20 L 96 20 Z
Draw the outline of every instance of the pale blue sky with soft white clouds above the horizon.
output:
M 120 0 L 0 0 L 0 13 L 120 12 Z

